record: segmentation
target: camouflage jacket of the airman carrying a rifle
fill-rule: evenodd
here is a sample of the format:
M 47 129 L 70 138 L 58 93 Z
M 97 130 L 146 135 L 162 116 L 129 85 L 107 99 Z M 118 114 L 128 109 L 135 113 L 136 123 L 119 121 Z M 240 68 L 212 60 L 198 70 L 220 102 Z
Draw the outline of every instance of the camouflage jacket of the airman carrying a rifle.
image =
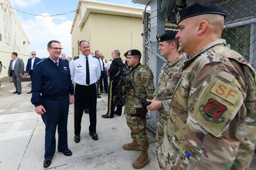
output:
M 141 100 L 153 96 L 153 73 L 150 68 L 139 65 L 127 76 L 127 80 L 131 81 L 132 88 L 126 89 L 125 102 L 131 107 L 141 108 Z

